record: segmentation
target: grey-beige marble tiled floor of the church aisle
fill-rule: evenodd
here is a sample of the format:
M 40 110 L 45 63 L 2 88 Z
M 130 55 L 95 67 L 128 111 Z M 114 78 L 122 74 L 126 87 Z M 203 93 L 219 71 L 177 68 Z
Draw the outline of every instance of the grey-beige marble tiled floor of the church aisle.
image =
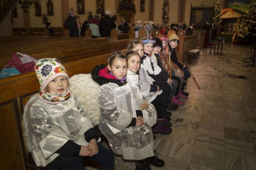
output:
M 223 52 L 215 56 L 201 50 L 193 60 L 191 71 L 201 90 L 191 77 L 185 105 L 172 112 L 173 132 L 154 141 L 165 166 L 152 169 L 256 170 L 256 67 L 241 66 L 250 46 L 225 43 Z M 116 169 L 133 170 L 135 163 L 116 157 Z

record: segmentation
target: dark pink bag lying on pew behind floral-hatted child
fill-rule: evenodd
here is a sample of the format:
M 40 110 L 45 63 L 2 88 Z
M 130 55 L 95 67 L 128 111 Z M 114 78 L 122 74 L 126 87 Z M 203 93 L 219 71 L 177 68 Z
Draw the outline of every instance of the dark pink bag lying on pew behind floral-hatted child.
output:
M 12 55 L 5 68 L 16 68 L 20 73 L 27 73 L 34 71 L 35 61 L 35 58 L 17 52 Z

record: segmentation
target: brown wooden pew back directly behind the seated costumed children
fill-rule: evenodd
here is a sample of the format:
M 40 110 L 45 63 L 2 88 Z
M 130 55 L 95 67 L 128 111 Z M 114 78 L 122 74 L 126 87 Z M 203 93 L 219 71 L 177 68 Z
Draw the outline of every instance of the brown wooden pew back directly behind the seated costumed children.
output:
M 68 75 L 89 73 L 96 65 L 107 63 L 108 54 L 93 56 L 64 64 Z M 86 82 L 85 82 L 86 83 Z M 27 169 L 32 163 L 31 155 L 25 146 L 22 117 L 25 104 L 34 93 L 39 83 L 35 72 L 0 79 L 0 169 Z

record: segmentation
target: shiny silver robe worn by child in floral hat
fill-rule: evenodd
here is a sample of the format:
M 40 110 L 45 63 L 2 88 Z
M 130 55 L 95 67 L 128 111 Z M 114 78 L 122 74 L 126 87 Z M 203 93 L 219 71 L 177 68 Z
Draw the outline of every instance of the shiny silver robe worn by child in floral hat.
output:
M 72 93 L 68 100 L 56 105 L 37 98 L 30 108 L 30 121 L 33 130 L 31 153 L 37 166 L 53 161 L 59 155 L 55 152 L 68 140 L 89 145 L 84 133 L 93 124 Z

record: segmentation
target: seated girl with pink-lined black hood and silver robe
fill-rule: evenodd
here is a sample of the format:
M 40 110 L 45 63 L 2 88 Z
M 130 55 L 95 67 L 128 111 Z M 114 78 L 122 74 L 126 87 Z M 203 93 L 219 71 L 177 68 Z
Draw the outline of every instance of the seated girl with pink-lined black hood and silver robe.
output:
M 99 129 L 115 154 L 126 160 L 138 160 L 136 169 L 150 169 L 150 164 L 162 167 L 164 161 L 154 156 L 151 127 L 135 109 L 126 72 L 127 58 L 117 51 L 109 56 L 107 67 L 96 66 L 91 73 L 100 85 Z

